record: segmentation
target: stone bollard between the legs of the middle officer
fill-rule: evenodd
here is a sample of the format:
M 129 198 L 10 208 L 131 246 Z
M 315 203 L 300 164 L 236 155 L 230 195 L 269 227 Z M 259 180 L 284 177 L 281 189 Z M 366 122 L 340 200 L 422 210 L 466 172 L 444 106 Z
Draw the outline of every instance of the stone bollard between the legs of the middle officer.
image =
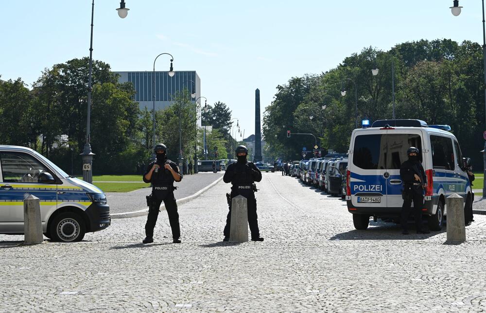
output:
M 238 195 L 231 200 L 231 225 L 229 241 L 244 243 L 248 241 L 248 203 L 245 197 Z

